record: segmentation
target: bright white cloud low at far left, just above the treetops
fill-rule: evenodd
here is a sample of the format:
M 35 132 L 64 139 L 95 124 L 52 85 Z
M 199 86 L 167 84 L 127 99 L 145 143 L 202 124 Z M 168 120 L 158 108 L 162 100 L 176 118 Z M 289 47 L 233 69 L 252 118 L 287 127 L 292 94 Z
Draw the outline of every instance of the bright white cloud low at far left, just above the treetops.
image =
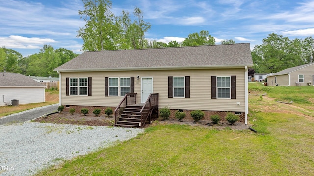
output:
M 42 48 L 42 45 L 48 43 L 56 43 L 53 39 L 38 38 L 38 37 L 22 37 L 18 35 L 10 35 L 9 37 L 0 37 L 0 46 L 7 48 L 19 48 L 19 49 L 38 49 Z

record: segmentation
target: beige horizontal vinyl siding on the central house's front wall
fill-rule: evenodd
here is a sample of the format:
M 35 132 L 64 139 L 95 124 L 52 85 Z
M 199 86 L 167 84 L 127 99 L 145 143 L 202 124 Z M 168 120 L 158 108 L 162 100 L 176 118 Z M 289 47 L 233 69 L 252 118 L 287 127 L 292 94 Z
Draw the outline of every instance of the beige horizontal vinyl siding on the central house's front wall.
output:
M 137 80 L 137 75 L 140 78 Z M 211 99 L 211 76 L 236 76 L 236 99 Z M 190 76 L 190 98 L 168 98 L 168 76 Z M 66 78 L 92 77 L 92 96 L 66 96 Z M 105 77 L 135 77 L 134 92 L 141 102 L 141 78 L 153 77 L 153 91 L 159 93 L 159 108 L 200 109 L 212 111 L 245 111 L 245 73 L 243 69 L 199 69 L 164 71 L 62 72 L 61 104 L 115 107 L 123 96 L 105 97 Z M 240 105 L 237 105 L 237 102 Z

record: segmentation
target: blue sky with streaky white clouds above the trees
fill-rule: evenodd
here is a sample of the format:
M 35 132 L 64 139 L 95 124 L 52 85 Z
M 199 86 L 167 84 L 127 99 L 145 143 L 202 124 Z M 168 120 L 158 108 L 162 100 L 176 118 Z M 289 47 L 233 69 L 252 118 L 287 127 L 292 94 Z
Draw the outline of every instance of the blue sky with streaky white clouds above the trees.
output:
M 275 32 L 294 38 L 314 37 L 314 0 L 111 0 L 111 11 L 144 12 L 152 27 L 145 37 L 168 43 L 181 42 L 190 33 L 209 31 L 216 44 L 262 44 Z M 81 53 L 77 38 L 85 22 L 78 10 L 81 0 L 0 0 L 0 46 L 23 56 L 38 53 L 44 44 Z

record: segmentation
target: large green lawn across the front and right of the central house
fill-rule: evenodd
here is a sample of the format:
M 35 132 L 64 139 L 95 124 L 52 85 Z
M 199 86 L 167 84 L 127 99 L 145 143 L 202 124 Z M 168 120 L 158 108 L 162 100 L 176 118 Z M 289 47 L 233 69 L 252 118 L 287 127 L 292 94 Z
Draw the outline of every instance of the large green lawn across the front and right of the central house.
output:
M 314 175 L 314 87 L 249 83 L 249 91 L 249 125 L 258 133 L 155 122 L 137 138 L 65 161 L 37 175 Z M 263 93 L 267 96 L 261 97 Z

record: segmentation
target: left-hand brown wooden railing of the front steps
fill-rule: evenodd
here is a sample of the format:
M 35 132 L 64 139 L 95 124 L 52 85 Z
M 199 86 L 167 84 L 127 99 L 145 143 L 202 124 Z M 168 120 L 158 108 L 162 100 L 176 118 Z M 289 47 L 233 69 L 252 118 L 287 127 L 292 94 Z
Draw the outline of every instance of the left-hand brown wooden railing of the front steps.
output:
M 120 101 L 119 105 L 114 110 L 114 124 L 117 124 L 117 121 L 121 117 L 121 114 L 123 113 L 127 105 L 136 104 L 136 95 L 137 93 L 127 93 Z

